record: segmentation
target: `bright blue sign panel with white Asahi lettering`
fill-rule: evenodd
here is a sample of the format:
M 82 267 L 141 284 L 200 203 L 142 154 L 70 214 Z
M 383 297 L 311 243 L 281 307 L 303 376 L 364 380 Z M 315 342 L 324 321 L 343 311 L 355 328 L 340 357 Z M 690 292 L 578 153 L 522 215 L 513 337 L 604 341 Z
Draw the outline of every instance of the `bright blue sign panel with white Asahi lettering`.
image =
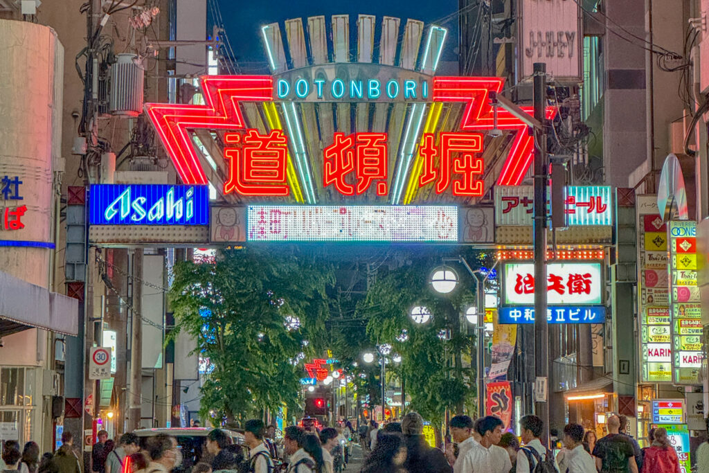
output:
M 209 225 L 207 186 L 94 184 L 91 225 Z

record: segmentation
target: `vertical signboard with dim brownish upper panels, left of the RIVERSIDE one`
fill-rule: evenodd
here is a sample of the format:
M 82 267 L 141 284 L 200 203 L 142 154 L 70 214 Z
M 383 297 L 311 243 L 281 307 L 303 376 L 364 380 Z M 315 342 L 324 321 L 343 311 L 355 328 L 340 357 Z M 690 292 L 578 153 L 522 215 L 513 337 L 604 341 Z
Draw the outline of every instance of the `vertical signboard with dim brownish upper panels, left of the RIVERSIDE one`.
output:
M 672 382 L 667 230 L 657 211 L 656 196 L 636 196 L 638 313 L 640 314 L 640 379 Z

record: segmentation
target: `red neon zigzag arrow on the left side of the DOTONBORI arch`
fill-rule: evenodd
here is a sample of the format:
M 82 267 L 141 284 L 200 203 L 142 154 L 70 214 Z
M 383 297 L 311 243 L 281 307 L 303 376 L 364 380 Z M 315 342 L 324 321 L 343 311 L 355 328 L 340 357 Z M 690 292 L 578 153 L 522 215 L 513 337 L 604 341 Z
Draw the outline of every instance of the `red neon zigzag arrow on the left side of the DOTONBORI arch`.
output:
M 273 100 L 271 76 L 202 76 L 206 105 L 145 104 L 167 153 L 184 184 L 207 184 L 189 130 L 245 128 L 239 101 Z

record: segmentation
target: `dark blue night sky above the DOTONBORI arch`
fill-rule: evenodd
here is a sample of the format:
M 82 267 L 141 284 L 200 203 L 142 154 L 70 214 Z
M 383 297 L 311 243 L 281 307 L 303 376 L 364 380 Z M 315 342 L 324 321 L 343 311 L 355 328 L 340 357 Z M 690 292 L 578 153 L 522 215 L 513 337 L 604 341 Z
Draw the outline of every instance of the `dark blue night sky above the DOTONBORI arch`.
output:
M 228 39 L 233 49 L 233 54 L 243 69 L 250 63 L 266 62 L 263 42 L 259 28 L 267 23 L 278 21 L 281 30 L 284 21 L 291 18 L 307 18 L 308 16 L 330 16 L 347 13 L 350 15 L 350 31 L 356 37 L 355 22 L 358 14 L 376 15 L 377 28 L 381 27 L 382 16 L 396 16 L 405 20 L 413 18 L 426 23 L 436 22 L 440 18 L 450 16 L 458 9 L 457 0 L 436 1 L 386 1 L 386 0 L 359 0 L 359 1 L 323 1 L 323 0 L 208 0 L 208 21 L 213 23 L 213 11 L 216 3 L 219 4 L 223 23 Z M 449 29 L 446 47 L 443 52 L 443 61 L 457 60 L 457 15 L 447 19 L 445 23 L 436 22 Z M 405 21 L 401 22 L 401 31 Z M 211 31 L 211 26 L 209 26 Z M 354 31 L 352 31 L 354 30 Z M 352 41 L 350 42 L 352 43 Z M 353 45 L 354 46 L 354 45 Z M 254 65 L 255 66 L 255 65 Z M 247 72 L 245 70 L 245 72 Z

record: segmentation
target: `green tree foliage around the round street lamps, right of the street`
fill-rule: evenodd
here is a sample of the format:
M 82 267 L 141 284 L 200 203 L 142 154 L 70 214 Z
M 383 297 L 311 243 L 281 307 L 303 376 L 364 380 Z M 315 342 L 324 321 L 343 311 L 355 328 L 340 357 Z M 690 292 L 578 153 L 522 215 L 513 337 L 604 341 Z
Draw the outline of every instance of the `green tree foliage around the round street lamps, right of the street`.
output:
M 470 260 L 479 267 L 488 256 L 471 255 Z M 462 411 L 464 405 L 472 404 L 477 392 L 474 367 L 462 365 L 462 355 L 468 355 L 476 343 L 462 322 L 466 309 L 475 305 L 475 282 L 469 274 L 457 271 L 457 289 L 446 296 L 435 293 L 428 278 L 440 261 L 440 256 L 419 257 L 392 269 L 370 286 L 359 307 L 361 316 L 369 320 L 369 338 L 375 343 L 391 343 L 393 351 L 401 355 L 398 370 L 406 379 L 410 408 L 438 425 L 446 408 Z M 427 307 L 431 320 L 414 323 L 409 316 L 414 306 Z M 403 330 L 408 340 L 401 341 Z

